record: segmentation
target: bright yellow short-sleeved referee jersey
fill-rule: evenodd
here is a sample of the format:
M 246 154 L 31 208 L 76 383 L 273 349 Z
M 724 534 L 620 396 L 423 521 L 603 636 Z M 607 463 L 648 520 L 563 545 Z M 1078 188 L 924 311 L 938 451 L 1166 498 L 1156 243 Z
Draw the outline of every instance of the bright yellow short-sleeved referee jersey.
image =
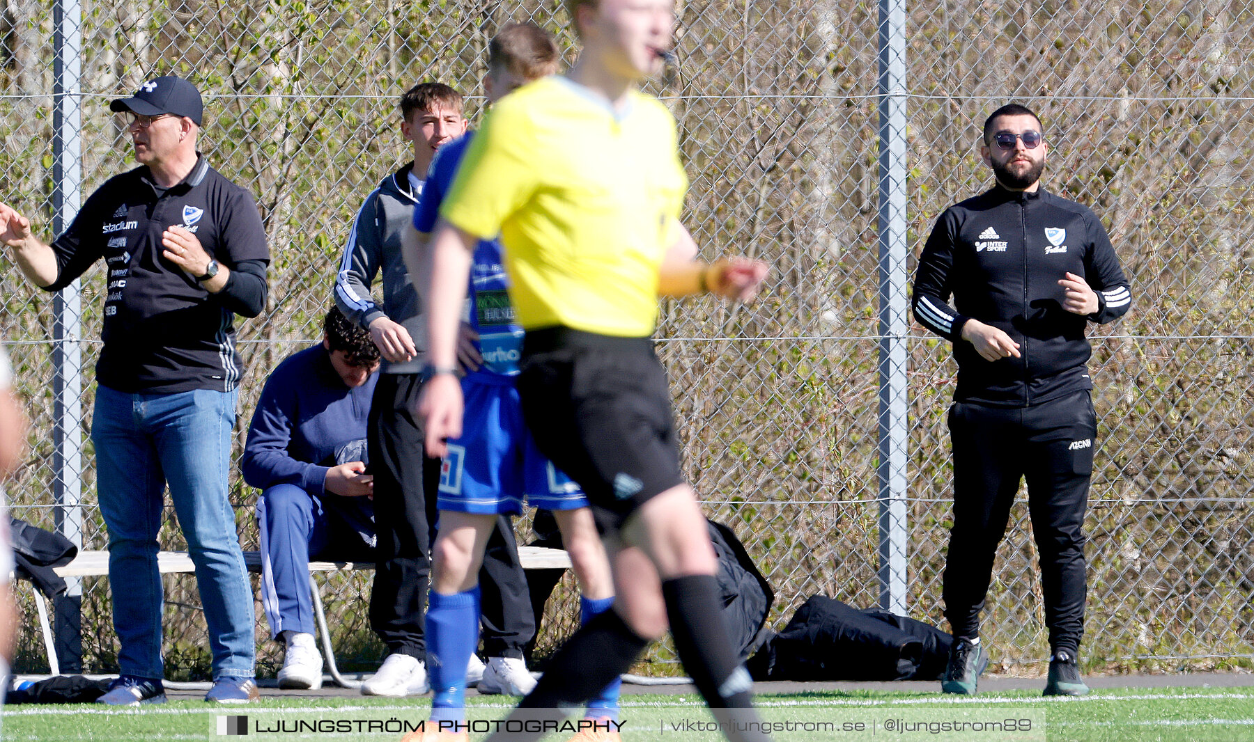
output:
M 661 102 L 633 91 L 616 115 L 587 88 L 549 76 L 488 113 L 440 214 L 477 237 L 500 234 L 524 328 L 643 337 L 686 188 Z

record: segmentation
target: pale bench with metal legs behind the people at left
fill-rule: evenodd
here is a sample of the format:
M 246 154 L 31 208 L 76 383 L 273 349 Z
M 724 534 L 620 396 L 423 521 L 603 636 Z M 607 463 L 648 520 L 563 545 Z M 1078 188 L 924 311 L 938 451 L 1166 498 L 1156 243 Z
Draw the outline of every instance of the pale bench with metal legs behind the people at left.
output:
M 571 558 L 561 549 L 544 549 L 542 546 L 519 546 L 519 562 L 523 569 L 567 569 L 571 567 Z M 261 572 L 261 551 L 245 551 L 243 562 L 248 572 Z M 310 593 L 314 595 L 314 613 L 317 618 L 319 634 L 322 638 L 324 656 L 327 669 L 336 683 L 345 688 L 360 686 L 359 682 L 349 681 L 340 674 L 335 664 L 335 652 L 331 648 L 331 633 L 326 628 L 326 612 L 322 609 L 322 595 L 314 574 L 319 572 L 341 572 L 374 569 L 374 562 L 310 562 Z M 196 565 L 187 551 L 158 551 L 157 569 L 162 574 L 194 573 Z M 61 577 L 107 577 L 109 574 L 108 551 L 79 551 L 78 556 L 65 567 L 55 568 Z M 60 674 L 60 663 L 56 661 L 56 651 L 53 645 L 53 628 L 48 620 L 48 607 L 39 590 L 35 593 L 35 607 L 39 609 L 39 624 L 44 634 L 44 647 L 48 651 L 48 664 L 51 673 Z

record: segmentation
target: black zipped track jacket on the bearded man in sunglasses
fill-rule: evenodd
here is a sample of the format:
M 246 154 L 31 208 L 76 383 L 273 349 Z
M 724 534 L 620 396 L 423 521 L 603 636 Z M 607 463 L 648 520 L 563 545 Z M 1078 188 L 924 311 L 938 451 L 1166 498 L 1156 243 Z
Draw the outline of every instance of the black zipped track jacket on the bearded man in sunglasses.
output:
M 1068 271 L 1097 292 L 1097 312 L 1082 317 L 1062 308 L 1058 280 Z M 998 186 L 937 219 L 919 256 L 912 307 L 919 323 L 953 341 L 956 400 L 1026 407 L 1092 389 L 1085 327 L 1121 317 L 1131 301 L 1119 257 L 1091 209 L 1045 189 Z M 1003 330 L 1020 343 L 1021 357 L 982 358 L 962 340 L 969 318 Z

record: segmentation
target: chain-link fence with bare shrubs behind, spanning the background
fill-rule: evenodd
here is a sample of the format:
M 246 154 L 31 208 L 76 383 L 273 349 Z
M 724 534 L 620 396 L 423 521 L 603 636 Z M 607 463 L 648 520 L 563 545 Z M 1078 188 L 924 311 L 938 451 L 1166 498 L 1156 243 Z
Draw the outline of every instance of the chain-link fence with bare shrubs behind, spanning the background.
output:
M 53 142 L 65 65 L 55 59 L 58 30 L 76 6 L 63 3 L 0 0 L 0 199 L 35 217 L 45 237 L 64 177 Z M 742 0 L 678 10 L 680 64 L 651 90 L 680 122 L 692 180 L 686 223 L 703 256 L 749 253 L 774 267 L 770 290 L 752 306 L 665 307 L 660 347 L 687 471 L 709 511 L 732 525 L 775 585 L 772 620 L 786 620 L 815 593 L 874 604 L 880 9 Z M 132 167 L 108 102 L 174 71 L 206 93 L 202 149 L 263 212 L 271 301 L 262 317 L 242 323 L 248 374 L 238 445 L 266 374 L 319 335 L 352 214 L 405 158 L 399 94 L 438 79 L 477 95 L 487 40 L 507 20 L 533 19 L 574 54 L 557 0 L 128 0 L 78 13 L 82 78 L 69 99 L 82 104 L 74 145 L 83 193 Z M 1132 312 L 1092 333 L 1101 447 L 1086 524 L 1085 656 L 1100 669 L 1248 666 L 1254 657 L 1246 523 L 1254 264 L 1243 237 L 1254 233 L 1254 160 L 1240 134 L 1254 124 L 1251 20 L 1241 0 L 947 0 L 918 4 L 903 28 L 888 29 L 905 49 L 898 93 L 907 112 L 909 251 L 917 254 L 946 206 L 991 184 L 978 127 L 1013 99 L 1045 122 L 1046 187 L 1102 217 L 1132 281 Z M 470 99 L 473 115 L 480 107 L 482 98 Z M 904 274 L 913 259 L 889 268 Z M 50 526 L 58 519 L 53 302 L 11 263 L 0 281 L 4 338 L 33 419 L 30 456 L 9 495 L 19 516 Z M 84 340 L 71 338 L 88 381 L 103 291 L 98 267 L 82 281 Z M 940 624 L 951 516 L 943 415 L 954 366 L 947 342 L 910 327 L 907 366 L 889 370 L 905 375 L 909 392 L 907 485 L 898 494 L 907 505 L 902 599 L 917 618 Z M 85 430 L 92 385 L 66 401 Z M 83 441 L 83 540 L 103 548 Z M 256 548 L 256 494 L 233 480 L 240 531 Z M 179 543 L 171 524 L 163 545 Z M 986 612 L 984 633 L 1006 667 L 1047 654 L 1030 544 L 1020 504 Z M 167 580 L 171 677 L 203 674 L 194 580 Z M 331 587 L 341 661 L 370 666 L 382 648 L 361 609 L 369 577 L 334 578 Z M 89 669 L 115 667 L 108 602 L 105 580 L 84 583 Z M 540 645 L 564 635 L 574 613 L 569 599 L 558 602 Z M 265 635 L 258 623 L 258 640 Z M 262 661 L 273 663 L 276 648 L 262 645 Z M 26 630 L 18 664 L 41 663 Z

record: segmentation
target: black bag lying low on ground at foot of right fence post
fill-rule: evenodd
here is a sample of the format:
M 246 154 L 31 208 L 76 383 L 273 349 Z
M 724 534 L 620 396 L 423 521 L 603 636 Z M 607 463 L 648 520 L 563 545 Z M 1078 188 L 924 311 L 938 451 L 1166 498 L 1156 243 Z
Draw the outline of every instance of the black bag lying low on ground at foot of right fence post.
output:
M 814 595 L 749 669 L 762 681 L 935 679 L 944 672 L 949 642 L 948 634 L 922 622 Z M 939 672 L 923 674 L 935 667 L 938 653 Z

